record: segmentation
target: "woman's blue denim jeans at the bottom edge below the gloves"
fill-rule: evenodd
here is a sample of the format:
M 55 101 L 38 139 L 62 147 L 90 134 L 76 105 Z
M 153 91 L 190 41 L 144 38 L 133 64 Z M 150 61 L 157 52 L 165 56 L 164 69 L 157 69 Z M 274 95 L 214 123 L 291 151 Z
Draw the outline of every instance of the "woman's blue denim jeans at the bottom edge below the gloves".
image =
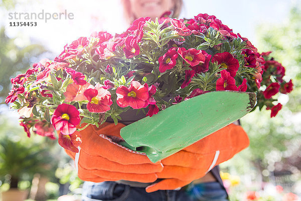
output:
M 93 183 L 85 181 L 82 193 L 83 201 L 226 201 L 227 193 L 218 182 L 193 184 L 181 190 L 158 190 L 147 193 L 145 188 L 131 187 L 114 181 Z

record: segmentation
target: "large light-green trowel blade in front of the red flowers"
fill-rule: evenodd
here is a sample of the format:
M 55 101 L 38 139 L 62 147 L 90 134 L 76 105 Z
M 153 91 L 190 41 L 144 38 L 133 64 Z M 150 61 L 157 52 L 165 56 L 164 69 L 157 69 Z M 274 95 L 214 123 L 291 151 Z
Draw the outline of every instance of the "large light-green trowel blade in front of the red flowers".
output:
M 251 92 L 204 93 L 123 127 L 122 145 L 155 163 L 242 118 L 255 102 Z

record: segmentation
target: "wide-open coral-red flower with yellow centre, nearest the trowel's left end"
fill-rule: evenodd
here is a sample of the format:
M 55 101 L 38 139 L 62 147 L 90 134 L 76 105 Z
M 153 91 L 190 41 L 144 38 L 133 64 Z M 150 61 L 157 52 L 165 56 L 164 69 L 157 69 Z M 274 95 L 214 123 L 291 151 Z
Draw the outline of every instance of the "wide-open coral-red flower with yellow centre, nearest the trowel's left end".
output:
M 131 81 L 130 86 L 118 86 L 116 89 L 117 105 L 121 108 L 130 106 L 140 109 L 148 103 L 148 85 L 141 85 L 138 81 Z

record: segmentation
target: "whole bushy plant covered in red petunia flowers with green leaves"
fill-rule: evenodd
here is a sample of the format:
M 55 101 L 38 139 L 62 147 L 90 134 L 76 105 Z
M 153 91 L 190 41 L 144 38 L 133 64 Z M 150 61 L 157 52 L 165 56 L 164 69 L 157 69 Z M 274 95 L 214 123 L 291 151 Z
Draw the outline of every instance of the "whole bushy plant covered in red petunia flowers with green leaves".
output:
M 129 108 L 147 108 L 152 117 L 215 90 L 256 92 L 257 106 L 267 106 L 272 117 L 281 109 L 272 96 L 290 92 L 292 83 L 267 56 L 215 16 L 140 18 L 120 35 L 80 37 L 54 61 L 34 64 L 11 80 L 6 103 L 14 103 L 28 136 L 54 138 L 59 130 L 60 145 L 72 151 L 81 123 L 98 127 L 111 117 L 116 124 Z

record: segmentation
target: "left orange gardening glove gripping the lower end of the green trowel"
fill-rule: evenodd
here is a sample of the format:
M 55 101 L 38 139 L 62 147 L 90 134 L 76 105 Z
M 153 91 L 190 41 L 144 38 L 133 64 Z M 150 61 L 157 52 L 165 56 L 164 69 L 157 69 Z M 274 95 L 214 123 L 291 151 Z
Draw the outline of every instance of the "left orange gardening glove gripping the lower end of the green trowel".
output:
M 125 125 L 104 123 L 88 126 L 80 132 L 79 153 L 65 150 L 75 160 L 78 177 L 85 181 L 102 182 L 129 180 L 154 182 L 156 172 L 163 170 L 161 162 L 152 163 L 145 154 L 132 151 L 116 142 L 122 140 L 120 129 Z

